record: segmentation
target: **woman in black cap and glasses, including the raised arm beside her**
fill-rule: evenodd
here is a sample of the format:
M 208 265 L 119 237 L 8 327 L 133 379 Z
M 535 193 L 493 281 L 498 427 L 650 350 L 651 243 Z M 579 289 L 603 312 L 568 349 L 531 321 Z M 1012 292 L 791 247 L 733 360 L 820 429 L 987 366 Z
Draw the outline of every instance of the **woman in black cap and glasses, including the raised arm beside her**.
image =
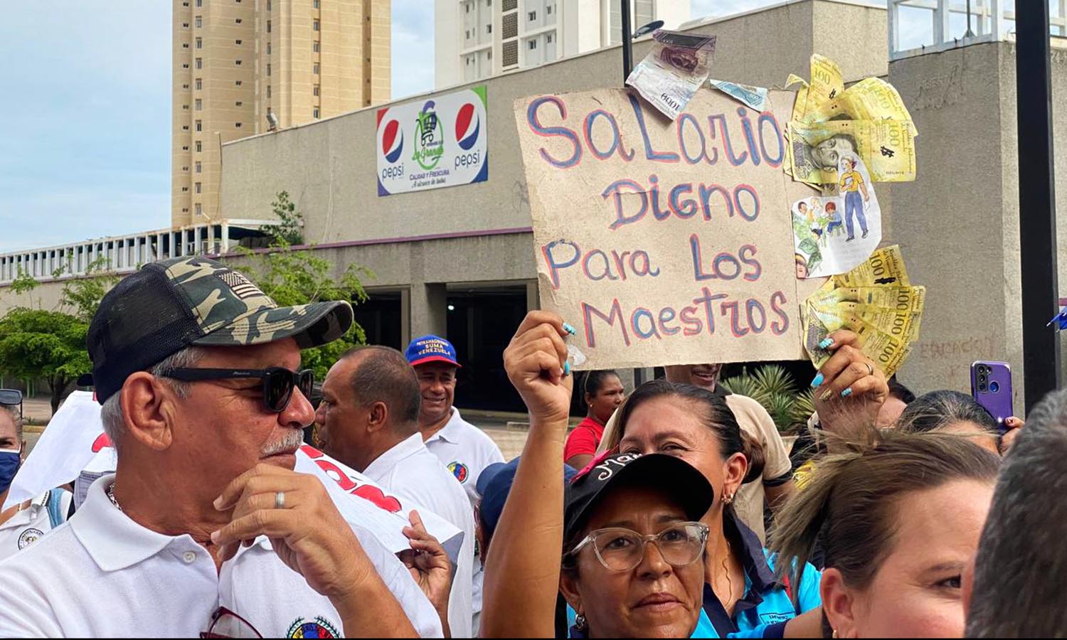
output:
M 700 471 L 671 455 L 610 455 L 564 500 L 567 334 L 555 314 L 531 311 L 504 353 L 530 432 L 488 558 L 481 635 L 553 636 L 561 591 L 578 614 L 572 635 L 688 638 L 704 622 L 716 637 L 701 608 L 708 529 L 696 521 L 717 496 Z

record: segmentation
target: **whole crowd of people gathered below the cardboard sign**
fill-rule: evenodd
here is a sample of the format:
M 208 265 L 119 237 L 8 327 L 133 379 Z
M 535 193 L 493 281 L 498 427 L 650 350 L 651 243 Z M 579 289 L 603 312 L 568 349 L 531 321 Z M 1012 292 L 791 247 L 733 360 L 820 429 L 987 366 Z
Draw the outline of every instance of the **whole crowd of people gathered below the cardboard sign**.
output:
M 0 512 L 0 637 L 1067 634 L 1067 393 L 998 425 L 970 396 L 915 398 L 839 331 L 791 451 L 720 364 L 625 389 L 572 372 L 573 330 L 531 311 L 504 354 L 530 421 L 505 461 L 455 406 L 444 338 L 354 349 L 319 389 L 301 350 L 352 323 L 205 258 L 123 279 L 87 338 L 116 468 L 77 508 L 57 486 Z M 0 406 L 2 502 L 27 447 Z M 309 426 L 424 510 L 410 549 L 294 470 Z

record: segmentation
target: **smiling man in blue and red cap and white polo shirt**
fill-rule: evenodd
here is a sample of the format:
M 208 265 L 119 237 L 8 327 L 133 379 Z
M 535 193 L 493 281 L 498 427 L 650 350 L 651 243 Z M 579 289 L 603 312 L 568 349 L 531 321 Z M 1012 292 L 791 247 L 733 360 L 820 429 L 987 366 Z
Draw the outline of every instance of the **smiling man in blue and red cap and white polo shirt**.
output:
M 441 460 L 460 481 L 471 506 L 478 503 L 478 477 L 482 469 L 504 462 L 504 454 L 493 438 L 460 417 L 456 401 L 456 348 L 437 336 L 411 341 L 404 354 L 415 368 L 423 395 L 418 428 L 426 448 Z

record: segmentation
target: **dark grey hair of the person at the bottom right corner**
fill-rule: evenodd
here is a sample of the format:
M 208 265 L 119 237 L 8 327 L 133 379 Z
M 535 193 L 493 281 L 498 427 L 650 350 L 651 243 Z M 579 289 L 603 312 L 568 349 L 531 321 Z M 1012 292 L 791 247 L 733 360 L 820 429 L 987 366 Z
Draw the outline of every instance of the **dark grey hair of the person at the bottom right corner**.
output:
M 1063 636 L 1067 391 L 1049 394 L 1001 469 L 978 543 L 968 638 Z

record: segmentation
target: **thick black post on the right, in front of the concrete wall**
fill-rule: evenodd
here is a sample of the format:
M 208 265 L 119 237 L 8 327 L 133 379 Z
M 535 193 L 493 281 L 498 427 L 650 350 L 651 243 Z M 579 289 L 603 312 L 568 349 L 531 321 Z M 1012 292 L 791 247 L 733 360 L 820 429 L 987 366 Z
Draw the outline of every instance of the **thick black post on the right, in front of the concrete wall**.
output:
M 1022 364 L 1029 412 L 1046 394 L 1060 387 L 1060 337 L 1046 326 L 1058 309 L 1048 2 L 1017 4 L 1015 58 Z

